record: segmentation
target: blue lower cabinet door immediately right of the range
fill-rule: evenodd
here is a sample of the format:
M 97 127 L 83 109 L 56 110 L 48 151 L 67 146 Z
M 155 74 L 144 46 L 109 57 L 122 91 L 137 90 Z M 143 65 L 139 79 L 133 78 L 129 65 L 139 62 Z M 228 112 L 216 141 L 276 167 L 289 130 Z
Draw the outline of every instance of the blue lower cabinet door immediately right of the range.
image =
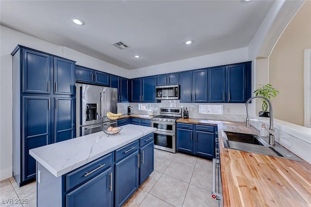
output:
M 177 128 L 178 151 L 193 152 L 193 131 Z

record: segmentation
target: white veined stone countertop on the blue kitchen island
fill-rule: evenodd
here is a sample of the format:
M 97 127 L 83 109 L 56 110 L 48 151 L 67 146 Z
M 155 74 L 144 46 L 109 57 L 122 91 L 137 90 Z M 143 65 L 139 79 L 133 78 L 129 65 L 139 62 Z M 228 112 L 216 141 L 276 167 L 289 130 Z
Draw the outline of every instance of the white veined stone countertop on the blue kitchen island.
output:
M 55 177 L 69 173 L 128 143 L 154 132 L 154 127 L 122 126 L 120 134 L 107 135 L 103 131 L 53 143 L 29 150 L 29 154 Z

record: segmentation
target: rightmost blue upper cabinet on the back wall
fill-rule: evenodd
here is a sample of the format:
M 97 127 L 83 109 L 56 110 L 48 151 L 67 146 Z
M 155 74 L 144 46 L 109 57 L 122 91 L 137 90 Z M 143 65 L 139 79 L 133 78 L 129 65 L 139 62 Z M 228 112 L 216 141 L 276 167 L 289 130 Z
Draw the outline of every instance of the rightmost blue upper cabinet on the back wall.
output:
M 228 65 L 227 102 L 245 103 L 250 96 L 248 91 L 250 91 L 250 62 Z

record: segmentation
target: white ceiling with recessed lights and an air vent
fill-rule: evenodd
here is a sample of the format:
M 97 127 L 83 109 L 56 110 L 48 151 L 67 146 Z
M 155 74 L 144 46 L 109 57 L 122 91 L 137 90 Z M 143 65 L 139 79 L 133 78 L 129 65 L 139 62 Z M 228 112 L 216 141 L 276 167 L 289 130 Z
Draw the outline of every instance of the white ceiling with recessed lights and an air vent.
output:
M 1 0 L 0 24 L 125 69 L 247 47 L 273 0 Z M 85 21 L 78 26 L 75 16 Z M 192 45 L 184 45 L 193 39 Z M 130 48 L 111 43 L 122 41 Z M 135 54 L 141 55 L 136 59 Z

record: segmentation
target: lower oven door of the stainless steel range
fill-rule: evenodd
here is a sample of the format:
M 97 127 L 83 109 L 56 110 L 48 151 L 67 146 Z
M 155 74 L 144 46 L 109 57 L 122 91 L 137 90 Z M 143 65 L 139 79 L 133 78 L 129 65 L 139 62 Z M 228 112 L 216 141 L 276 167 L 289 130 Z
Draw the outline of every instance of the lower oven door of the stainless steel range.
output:
M 156 149 L 162 149 L 168 152 L 176 153 L 175 134 L 163 131 L 155 131 L 154 134 Z

